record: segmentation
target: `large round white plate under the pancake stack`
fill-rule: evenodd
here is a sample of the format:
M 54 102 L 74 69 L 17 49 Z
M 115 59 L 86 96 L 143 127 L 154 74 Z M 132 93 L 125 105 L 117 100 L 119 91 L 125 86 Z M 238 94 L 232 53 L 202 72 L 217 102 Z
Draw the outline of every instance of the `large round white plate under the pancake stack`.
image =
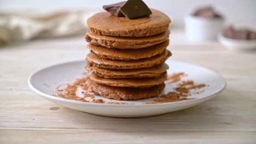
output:
M 166 63 L 170 67 L 170 69 L 167 71 L 168 74 L 183 71 L 188 75 L 184 79 L 192 79 L 196 83 L 205 83 L 208 86 L 201 88 L 200 91 L 203 92 L 200 94 L 192 94 L 189 96 L 189 98 L 196 99 L 164 104 L 142 104 L 145 102 L 153 101 L 152 98 L 132 101 L 119 101 L 109 100 L 95 95 L 96 99 L 101 98 L 104 101 L 135 103 L 134 105 L 117 105 L 86 103 L 52 96 L 58 86 L 62 85 L 63 83 L 72 82 L 74 79 L 82 77 L 83 73 L 86 72 L 84 69 L 86 62 L 84 60 L 56 64 L 38 70 L 28 79 L 28 85 L 32 91 L 50 101 L 53 101 L 58 105 L 79 111 L 93 113 L 95 115 L 110 117 L 146 117 L 187 109 L 188 107 L 198 105 L 206 100 L 216 97 L 224 90 L 226 86 L 225 79 L 212 70 L 178 61 L 169 60 L 166 61 Z M 172 91 L 173 87 L 174 83 L 167 83 L 163 93 Z

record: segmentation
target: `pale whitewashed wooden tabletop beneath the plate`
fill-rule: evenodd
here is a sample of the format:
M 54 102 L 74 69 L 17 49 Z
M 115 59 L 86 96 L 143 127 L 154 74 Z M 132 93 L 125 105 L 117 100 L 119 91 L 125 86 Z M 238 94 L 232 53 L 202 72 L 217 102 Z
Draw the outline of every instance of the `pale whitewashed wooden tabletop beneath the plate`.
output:
M 40 68 L 84 59 L 83 36 L 8 45 L 0 47 L 0 143 L 256 143 L 256 53 L 188 44 L 182 32 L 171 31 L 171 59 L 225 77 L 219 97 L 155 117 L 95 116 L 56 105 L 27 85 Z

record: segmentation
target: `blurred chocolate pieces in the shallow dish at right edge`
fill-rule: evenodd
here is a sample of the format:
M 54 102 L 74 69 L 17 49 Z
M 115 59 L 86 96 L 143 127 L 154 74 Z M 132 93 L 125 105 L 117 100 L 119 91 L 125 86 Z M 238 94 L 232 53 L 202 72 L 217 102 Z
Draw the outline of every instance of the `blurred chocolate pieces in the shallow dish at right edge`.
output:
M 243 40 L 256 39 L 256 32 L 246 28 L 235 29 L 232 26 L 228 26 L 224 28 L 223 35 L 224 37 L 230 38 L 230 39 L 243 39 Z

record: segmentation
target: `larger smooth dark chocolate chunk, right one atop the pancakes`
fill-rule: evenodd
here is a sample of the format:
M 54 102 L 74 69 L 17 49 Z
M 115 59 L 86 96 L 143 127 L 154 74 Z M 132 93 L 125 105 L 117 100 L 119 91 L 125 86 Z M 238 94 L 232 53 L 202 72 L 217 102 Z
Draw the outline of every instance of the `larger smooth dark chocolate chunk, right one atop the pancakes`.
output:
M 141 0 L 128 0 L 123 7 L 120 8 L 120 11 L 129 19 L 146 17 L 152 14 L 148 6 Z

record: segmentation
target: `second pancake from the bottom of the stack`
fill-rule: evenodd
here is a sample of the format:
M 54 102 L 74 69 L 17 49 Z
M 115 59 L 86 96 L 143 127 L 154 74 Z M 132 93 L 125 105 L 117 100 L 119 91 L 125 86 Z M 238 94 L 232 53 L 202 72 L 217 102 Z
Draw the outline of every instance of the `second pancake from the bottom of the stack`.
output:
M 166 72 L 159 77 L 151 78 L 133 78 L 133 79 L 106 79 L 104 77 L 97 76 L 96 74 L 90 74 L 90 79 L 96 83 L 113 87 L 152 87 L 164 83 L 167 79 Z

